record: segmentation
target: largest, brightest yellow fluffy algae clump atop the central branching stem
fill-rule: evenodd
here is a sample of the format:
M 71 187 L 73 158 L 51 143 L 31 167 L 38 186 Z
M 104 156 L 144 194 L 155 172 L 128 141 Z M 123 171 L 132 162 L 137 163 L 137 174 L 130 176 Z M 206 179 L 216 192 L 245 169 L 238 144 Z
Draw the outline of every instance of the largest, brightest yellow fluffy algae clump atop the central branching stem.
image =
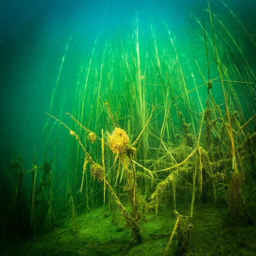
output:
M 121 128 L 115 128 L 113 133 L 108 137 L 110 149 L 114 154 L 123 154 L 126 152 L 130 139 L 126 132 Z

